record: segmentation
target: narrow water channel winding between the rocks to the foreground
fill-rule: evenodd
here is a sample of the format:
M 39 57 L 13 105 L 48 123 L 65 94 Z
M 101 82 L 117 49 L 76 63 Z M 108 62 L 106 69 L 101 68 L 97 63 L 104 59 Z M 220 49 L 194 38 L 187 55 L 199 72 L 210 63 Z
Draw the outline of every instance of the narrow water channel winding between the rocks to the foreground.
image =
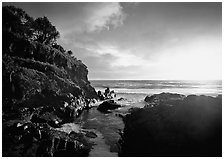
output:
M 94 132 L 97 137 L 90 138 L 94 143 L 93 149 L 90 151 L 90 157 L 117 157 L 118 156 L 118 140 L 120 138 L 119 130 L 123 130 L 124 123 L 118 114 L 125 115 L 128 109 L 132 107 L 143 107 L 144 98 L 134 100 L 129 98 L 117 101 L 122 107 L 111 111 L 111 113 L 102 113 L 97 110 L 97 106 L 89 110 L 84 110 L 76 119 L 75 124 L 81 126 L 83 130 Z

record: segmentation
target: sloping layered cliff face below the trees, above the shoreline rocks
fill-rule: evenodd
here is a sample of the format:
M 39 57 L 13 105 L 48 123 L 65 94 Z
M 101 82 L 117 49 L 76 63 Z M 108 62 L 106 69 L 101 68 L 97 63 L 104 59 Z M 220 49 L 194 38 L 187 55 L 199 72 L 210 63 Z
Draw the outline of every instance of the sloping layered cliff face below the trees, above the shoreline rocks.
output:
M 10 34 L 13 35 L 8 33 L 9 36 Z M 3 50 L 3 86 L 7 87 L 6 90 L 10 90 L 8 88 L 11 82 L 17 83 L 17 89 L 23 90 L 19 93 L 21 98 L 34 95 L 34 90 L 41 92 L 44 89 L 58 94 L 72 93 L 74 96 L 97 97 L 88 81 L 87 67 L 80 60 L 52 46 L 30 42 L 16 36 L 7 44 Z M 23 78 L 25 76 L 26 78 Z M 11 93 L 8 92 L 9 95 Z

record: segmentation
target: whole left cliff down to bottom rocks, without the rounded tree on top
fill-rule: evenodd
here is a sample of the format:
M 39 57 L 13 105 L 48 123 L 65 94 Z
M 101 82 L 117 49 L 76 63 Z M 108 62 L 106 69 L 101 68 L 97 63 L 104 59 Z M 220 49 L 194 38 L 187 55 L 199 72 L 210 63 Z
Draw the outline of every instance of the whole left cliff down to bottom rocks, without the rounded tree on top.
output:
M 56 130 L 97 98 L 87 67 L 57 43 L 35 40 L 28 23 L 21 9 L 3 7 L 3 156 L 87 156 L 83 134 Z

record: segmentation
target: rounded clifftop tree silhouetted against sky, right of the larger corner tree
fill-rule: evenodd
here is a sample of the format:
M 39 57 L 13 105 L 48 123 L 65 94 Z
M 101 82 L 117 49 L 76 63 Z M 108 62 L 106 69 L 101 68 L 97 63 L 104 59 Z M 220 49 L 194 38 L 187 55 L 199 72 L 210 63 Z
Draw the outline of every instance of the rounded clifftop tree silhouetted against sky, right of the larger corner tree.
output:
M 59 32 L 51 24 L 47 17 L 40 17 L 34 21 L 34 40 L 42 44 L 54 44 L 59 38 Z

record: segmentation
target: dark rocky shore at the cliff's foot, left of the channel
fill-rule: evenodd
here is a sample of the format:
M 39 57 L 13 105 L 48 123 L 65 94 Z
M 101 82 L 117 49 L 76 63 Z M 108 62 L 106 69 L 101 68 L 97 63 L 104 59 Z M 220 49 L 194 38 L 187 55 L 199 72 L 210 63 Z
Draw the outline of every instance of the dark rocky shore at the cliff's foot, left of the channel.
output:
M 63 127 L 90 104 L 21 108 L 4 114 L 3 156 L 88 156 L 91 132 L 66 132 Z

